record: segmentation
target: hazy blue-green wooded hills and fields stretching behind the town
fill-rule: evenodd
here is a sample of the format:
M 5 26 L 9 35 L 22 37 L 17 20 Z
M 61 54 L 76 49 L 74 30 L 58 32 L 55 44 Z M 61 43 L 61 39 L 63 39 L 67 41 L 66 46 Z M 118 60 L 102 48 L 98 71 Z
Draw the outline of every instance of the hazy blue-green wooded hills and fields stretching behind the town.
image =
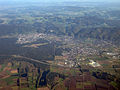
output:
M 120 45 L 119 3 L 32 4 L 23 3 L 22 0 L 21 4 L 13 0 L 17 3 L 14 4 L 8 1 L 10 0 L 6 0 L 12 5 L 1 6 L 0 9 L 1 36 L 28 32 L 51 33 L 52 30 L 52 34 L 56 35 L 102 39 Z M 31 1 L 33 2 L 25 2 Z M 40 0 L 34 2 L 37 1 Z M 4 1 L 3 3 L 6 5 Z

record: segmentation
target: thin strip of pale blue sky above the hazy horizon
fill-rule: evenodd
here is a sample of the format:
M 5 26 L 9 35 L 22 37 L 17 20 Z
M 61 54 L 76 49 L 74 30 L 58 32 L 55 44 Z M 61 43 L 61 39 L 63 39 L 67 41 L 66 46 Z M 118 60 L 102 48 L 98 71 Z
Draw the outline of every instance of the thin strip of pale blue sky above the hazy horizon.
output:
M 59 2 L 119 2 L 120 0 L 0 0 L 0 5 L 8 5 L 8 4 L 23 4 L 23 3 L 59 3 Z

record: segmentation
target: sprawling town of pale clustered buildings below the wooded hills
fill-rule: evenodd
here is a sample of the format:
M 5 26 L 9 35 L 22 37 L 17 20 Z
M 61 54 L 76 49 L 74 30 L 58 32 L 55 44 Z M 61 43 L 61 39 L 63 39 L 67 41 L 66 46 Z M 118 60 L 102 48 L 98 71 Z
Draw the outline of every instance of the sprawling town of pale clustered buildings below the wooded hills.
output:
M 20 34 L 16 43 L 28 44 L 39 39 L 54 43 L 54 64 L 58 66 L 78 67 L 82 63 L 91 67 L 102 67 L 98 60 L 103 57 L 106 59 L 120 59 L 120 53 L 116 46 L 102 40 L 91 40 L 89 38 L 86 40 L 75 40 L 70 36 L 30 33 Z M 56 55 L 57 49 L 62 49 L 61 55 Z

